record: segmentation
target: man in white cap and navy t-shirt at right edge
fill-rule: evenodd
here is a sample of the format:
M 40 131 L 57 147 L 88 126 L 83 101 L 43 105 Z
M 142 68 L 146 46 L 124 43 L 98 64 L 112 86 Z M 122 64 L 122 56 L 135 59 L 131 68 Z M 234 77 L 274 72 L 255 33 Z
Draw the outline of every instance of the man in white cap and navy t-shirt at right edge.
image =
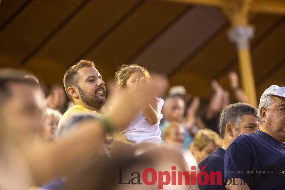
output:
M 227 190 L 285 189 L 285 87 L 260 98 L 259 131 L 237 137 L 225 152 Z

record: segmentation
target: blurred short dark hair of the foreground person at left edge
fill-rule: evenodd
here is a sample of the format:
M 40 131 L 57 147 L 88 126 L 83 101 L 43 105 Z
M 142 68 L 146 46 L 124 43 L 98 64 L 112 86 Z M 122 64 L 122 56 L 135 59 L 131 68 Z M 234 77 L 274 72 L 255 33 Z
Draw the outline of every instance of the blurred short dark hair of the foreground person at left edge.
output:
M 38 86 L 39 84 L 35 79 L 30 77 L 25 77 L 30 75 L 30 73 L 21 70 L 15 70 L 10 68 L 5 68 L 0 70 L 0 106 L 2 106 L 7 100 L 11 98 L 11 92 L 8 83 L 25 83 L 29 85 Z

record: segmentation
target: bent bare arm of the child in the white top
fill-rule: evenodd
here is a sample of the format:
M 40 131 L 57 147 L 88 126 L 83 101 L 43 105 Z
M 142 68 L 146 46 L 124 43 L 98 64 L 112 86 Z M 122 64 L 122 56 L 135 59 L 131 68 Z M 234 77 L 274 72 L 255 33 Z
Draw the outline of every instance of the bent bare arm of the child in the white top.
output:
M 155 125 L 159 120 L 159 107 L 158 101 L 155 97 L 142 107 L 146 120 L 151 124 Z

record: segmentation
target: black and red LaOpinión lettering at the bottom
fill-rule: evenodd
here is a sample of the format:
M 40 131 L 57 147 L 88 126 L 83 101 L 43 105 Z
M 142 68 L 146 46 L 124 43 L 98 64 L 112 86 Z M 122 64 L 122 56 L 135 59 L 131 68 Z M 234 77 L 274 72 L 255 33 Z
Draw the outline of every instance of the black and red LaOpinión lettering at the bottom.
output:
M 201 171 L 196 175 L 196 167 L 191 167 L 191 172 L 188 171 L 175 171 L 176 166 L 172 166 L 172 171 L 156 171 L 153 168 L 146 168 L 142 173 L 142 182 L 146 185 L 154 185 L 158 181 L 158 189 L 163 189 L 163 185 L 196 185 L 196 181 L 199 185 L 206 185 L 210 181 L 210 185 L 215 185 L 215 176 L 217 176 L 217 185 L 222 185 L 222 173 L 221 171 L 210 171 L 210 174 L 203 171 L 207 166 L 202 166 Z M 131 173 L 133 178 L 129 181 L 123 182 L 123 169 L 124 167 L 118 167 L 119 169 L 119 183 L 117 184 L 133 184 L 141 185 L 141 174 L 139 172 Z M 148 173 L 151 173 L 151 180 L 148 180 Z M 170 174 L 171 173 L 171 174 Z M 190 175 L 191 174 L 191 175 Z M 197 176 L 197 177 L 196 177 Z M 203 181 L 202 181 L 202 176 Z M 183 184 L 183 178 L 184 184 Z M 165 180 L 164 180 L 165 179 Z M 176 180 L 177 179 L 177 180 Z M 177 182 L 177 183 L 176 183 Z

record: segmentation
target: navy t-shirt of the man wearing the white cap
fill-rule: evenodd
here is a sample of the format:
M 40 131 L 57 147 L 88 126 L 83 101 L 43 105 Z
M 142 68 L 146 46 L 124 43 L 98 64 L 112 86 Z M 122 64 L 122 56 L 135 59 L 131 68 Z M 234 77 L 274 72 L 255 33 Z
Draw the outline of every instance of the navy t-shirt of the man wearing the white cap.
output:
M 285 189 L 285 143 L 262 131 L 243 134 L 227 148 L 224 169 L 224 185 L 241 178 L 251 190 Z

